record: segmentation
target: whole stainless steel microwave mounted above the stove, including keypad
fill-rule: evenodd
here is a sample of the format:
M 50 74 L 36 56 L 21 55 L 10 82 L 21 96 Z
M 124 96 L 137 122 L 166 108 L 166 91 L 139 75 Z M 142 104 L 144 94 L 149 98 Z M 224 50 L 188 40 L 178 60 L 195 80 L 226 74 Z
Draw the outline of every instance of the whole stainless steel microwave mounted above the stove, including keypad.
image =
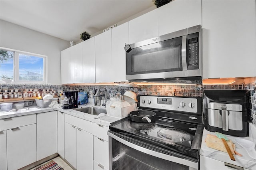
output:
M 202 82 L 202 29 L 194 26 L 130 44 L 126 51 L 129 81 Z

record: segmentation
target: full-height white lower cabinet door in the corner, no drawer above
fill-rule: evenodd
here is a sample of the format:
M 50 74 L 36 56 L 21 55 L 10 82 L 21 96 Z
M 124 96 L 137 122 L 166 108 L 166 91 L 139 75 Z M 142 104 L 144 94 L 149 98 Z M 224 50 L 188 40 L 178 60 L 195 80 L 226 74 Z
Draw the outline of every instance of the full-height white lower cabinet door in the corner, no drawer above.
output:
M 57 153 L 57 111 L 37 116 L 37 160 Z

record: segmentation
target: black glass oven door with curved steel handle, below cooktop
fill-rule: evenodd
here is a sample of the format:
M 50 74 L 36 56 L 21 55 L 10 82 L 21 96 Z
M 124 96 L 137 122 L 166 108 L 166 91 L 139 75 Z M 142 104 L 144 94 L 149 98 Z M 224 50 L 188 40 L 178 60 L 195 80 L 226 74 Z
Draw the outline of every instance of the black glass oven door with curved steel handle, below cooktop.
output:
M 108 131 L 110 170 L 198 170 L 198 161 L 177 153 L 165 154 L 156 146 Z

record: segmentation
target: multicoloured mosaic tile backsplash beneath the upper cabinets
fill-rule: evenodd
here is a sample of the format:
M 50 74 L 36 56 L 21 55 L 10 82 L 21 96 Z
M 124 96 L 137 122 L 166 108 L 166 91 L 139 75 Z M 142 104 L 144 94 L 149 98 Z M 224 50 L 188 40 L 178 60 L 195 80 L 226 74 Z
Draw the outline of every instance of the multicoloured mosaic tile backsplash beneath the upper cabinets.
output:
M 162 95 L 162 96 L 188 96 L 202 97 L 204 89 L 242 89 L 243 85 L 138 85 L 138 87 L 116 87 L 114 85 L 50 85 L 50 84 L 0 84 L 0 90 L 4 89 L 50 89 L 56 91 L 87 91 L 89 97 L 93 96 L 94 89 L 105 87 L 108 98 L 114 97 L 116 91 L 130 90 L 138 95 Z M 249 121 L 256 127 L 256 85 L 246 84 L 248 90 L 248 116 Z

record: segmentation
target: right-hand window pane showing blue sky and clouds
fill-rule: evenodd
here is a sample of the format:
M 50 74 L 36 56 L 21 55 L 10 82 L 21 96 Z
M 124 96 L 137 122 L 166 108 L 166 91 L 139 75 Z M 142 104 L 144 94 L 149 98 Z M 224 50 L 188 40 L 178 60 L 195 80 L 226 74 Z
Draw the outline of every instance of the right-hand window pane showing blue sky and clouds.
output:
M 44 81 L 44 58 L 20 54 L 19 79 L 24 81 Z

